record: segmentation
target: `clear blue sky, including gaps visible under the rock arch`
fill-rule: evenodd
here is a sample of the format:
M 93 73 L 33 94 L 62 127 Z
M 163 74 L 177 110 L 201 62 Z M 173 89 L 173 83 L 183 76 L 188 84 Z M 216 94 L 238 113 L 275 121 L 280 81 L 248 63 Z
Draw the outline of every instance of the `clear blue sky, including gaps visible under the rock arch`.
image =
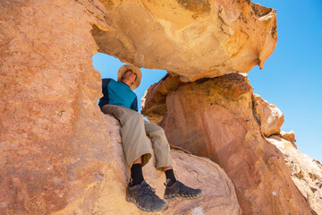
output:
M 298 150 L 322 162 L 322 1 L 254 2 L 276 9 L 278 42 L 264 69 L 255 66 L 248 73 L 250 84 L 254 93 L 284 113 L 282 130 L 295 132 Z M 116 80 L 122 64 L 113 56 L 93 56 L 103 78 Z M 141 71 L 140 87 L 134 90 L 139 99 L 166 73 Z

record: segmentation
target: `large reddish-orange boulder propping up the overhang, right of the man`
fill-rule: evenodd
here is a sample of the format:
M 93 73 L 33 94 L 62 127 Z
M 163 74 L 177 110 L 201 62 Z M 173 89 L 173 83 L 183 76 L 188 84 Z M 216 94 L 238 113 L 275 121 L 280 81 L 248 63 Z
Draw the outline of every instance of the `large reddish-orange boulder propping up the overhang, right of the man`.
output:
M 283 155 L 261 135 L 252 98 L 241 74 L 185 83 L 167 95 L 162 126 L 169 142 L 225 169 L 243 214 L 309 214 Z

